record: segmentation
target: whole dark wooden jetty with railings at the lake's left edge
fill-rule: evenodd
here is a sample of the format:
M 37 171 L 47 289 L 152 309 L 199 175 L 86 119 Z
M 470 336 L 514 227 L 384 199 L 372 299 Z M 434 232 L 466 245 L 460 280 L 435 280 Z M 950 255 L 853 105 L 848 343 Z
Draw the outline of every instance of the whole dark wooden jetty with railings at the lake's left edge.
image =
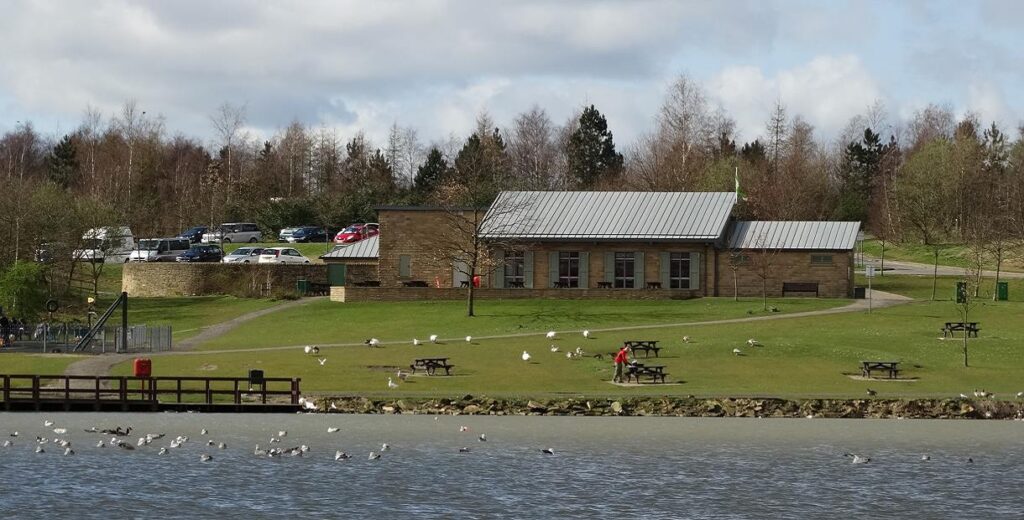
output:
M 299 379 L 0 375 L 6 411 L 295 413 Z M 268 399 L 269 397 L 269 399 Z

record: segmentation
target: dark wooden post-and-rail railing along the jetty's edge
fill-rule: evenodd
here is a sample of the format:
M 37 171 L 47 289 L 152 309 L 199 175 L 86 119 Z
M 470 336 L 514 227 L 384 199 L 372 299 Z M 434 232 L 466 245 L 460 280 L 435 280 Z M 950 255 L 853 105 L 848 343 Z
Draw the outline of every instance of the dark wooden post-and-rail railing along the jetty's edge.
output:
M 298 378 L 263 378 L 250 384 L 249 378 L 0 375 L 0 395 L 5 402 L 91 400 L 97 403 L 188 403 L 196 402 L 189 396 L 199 395 L 206 404 L 224 402 L 215 399 L 216 396 L 230 396 L 234 404 L 242 404 L 243 396 L 255 396 L 262 404 L 266 404 L 268 396 L 288 396 L 291 404 L 298 405 L 299 381 Z M 287 390 L 267 388 L 285 383 Z

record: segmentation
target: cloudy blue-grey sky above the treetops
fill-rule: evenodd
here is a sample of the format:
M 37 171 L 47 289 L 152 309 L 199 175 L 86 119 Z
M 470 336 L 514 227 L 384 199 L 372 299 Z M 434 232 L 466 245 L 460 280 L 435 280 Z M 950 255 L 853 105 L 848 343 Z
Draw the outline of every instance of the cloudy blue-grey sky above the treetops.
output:
M 0 6 L 0 132 L 73 131 L 127 100 L 210 141 L 245 105 L 265 137 L 293 120 L 424 141 L 539 105 L 589 104 L 620 146 L 654 126 L 679 75 L 757 138 L 776 101 L 835 137 L 882 102 L 1024 121 L 1024 1 L 18 1 Z

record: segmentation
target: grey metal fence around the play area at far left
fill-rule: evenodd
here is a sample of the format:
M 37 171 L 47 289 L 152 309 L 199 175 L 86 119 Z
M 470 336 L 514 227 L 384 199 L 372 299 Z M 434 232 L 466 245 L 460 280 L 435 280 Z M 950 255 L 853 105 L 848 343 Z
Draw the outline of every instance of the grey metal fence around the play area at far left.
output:
M 5 345 L 13 350 L 35 352 L 69 352 L 89 332 L 83 323 L 19 323 L 10 328 Z M 155 352 L 171 350 L 171 326 L 132 326 L 128 328 L 128 342 L 121 342 L 120 327 L 104 327 L 89 342 L 85 351 Z

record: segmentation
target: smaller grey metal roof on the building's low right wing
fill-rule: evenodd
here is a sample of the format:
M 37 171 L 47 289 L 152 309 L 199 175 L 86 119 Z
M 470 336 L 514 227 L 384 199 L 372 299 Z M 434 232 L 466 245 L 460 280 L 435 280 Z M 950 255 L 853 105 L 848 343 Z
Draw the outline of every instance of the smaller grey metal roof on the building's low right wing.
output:
M 736 222 L 730 249 L 852 250 L 860 222 Z

